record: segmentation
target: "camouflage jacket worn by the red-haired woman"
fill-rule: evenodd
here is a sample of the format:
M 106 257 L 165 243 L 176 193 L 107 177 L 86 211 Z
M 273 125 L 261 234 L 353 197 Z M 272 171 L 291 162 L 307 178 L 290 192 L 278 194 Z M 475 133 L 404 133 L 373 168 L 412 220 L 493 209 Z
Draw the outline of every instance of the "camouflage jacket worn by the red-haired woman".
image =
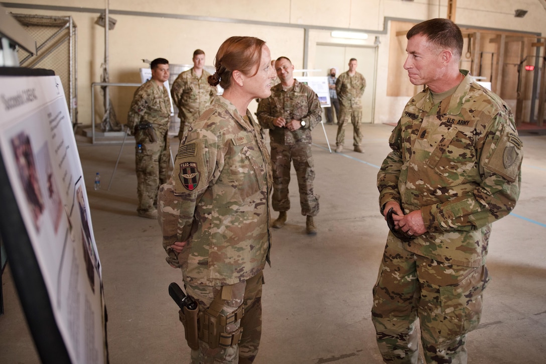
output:
M 271 160 L 259 125 L 219 96 L 189 128 L 159 188 L 167 262 L 197 285 L 230 285 L 269 262 Z M 178 256 L 168 248 L 188 245 Z

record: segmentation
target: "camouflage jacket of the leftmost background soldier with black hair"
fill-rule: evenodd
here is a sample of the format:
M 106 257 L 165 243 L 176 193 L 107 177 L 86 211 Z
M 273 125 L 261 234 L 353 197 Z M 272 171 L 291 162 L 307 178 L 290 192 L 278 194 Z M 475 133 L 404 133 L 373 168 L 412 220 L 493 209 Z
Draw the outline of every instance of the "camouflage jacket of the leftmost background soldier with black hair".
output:
M 169 130 L 170 99 L 163 85 L 150 79 L 136 89 L 127 115 L 127 126 L 134 131 L 136 124 L 150 122 L 159 136 Z

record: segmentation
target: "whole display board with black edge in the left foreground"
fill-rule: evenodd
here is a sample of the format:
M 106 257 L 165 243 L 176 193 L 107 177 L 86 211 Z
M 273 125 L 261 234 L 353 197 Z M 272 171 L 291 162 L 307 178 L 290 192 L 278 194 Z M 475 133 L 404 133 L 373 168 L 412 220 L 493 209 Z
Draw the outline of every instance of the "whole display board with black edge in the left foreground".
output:
M 0 232 L 40 359 L 108 362 L 102 269 L 60 78 L 0 75 L 0 90 Z

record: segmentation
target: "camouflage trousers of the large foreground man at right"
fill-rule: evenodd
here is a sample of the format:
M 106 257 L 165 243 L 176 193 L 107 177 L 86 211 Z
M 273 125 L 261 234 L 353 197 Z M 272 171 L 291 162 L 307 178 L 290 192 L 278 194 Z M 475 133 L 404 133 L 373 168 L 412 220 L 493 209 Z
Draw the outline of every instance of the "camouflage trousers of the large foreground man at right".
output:
M 482 296 L 489 282 L 485 265 L 449 265 L 410 253 L 389 232 L 373 287 L 372 321 L 387 363 L 466 363 L 466 334 L 482 314 Z

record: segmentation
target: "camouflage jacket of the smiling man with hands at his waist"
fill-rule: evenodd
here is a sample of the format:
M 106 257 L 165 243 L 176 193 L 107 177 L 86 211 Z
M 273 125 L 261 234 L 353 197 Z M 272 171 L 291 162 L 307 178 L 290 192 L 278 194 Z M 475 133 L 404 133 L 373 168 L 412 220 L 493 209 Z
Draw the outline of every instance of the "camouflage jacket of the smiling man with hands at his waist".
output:
M 260 125 L 269 129 L 272 142 L 283 145 L 311 144 L 311 130 L 321 122 L 322 109 L 313 89 L 294 80 L 294 85 L 288 92 L 282 89 L 282 84 L 271 87 L 271 96 L 260 100 L 256 115 Z M 305 126 L 293 132 L 277 127 L 273 125 L 273 120 L 279 116 L 287 122 L 303 120 Z

